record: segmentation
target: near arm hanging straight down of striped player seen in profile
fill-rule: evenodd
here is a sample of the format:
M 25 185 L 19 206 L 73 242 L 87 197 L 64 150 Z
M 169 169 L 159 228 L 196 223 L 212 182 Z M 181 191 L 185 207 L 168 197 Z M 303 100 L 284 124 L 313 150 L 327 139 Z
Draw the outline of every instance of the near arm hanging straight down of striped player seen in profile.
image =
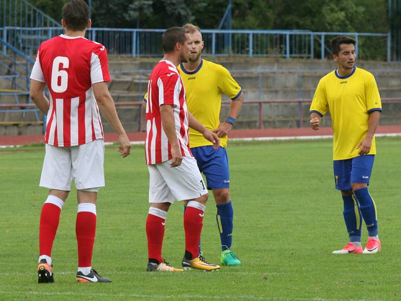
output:
M 175 121 L 173 106 L 171 104 L 162 104 L 160 106 L 161 125 L 171 145 L 171 163 L 170 167 L 181 165 L 182 155 L 178 143 L 177 134 L 175 133 Z

